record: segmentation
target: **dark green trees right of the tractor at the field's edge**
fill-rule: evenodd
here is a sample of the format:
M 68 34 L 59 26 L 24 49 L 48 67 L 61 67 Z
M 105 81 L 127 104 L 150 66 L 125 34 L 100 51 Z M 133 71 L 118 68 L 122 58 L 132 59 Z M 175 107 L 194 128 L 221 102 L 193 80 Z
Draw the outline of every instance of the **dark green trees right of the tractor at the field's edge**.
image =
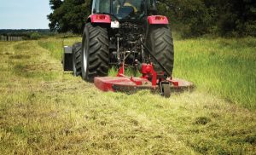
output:
M 158 1 L 160 13 L 168 15 L 172 27 L 184 37 L 206 33 L 220 36 L 256 36 L 255 0 Z

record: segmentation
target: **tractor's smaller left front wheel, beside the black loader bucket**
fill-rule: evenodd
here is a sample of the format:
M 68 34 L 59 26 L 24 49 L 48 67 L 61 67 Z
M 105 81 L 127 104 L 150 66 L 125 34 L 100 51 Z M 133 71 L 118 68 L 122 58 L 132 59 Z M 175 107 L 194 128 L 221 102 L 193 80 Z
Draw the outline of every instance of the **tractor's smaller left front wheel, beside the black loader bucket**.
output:
M 82 43 L 73 44 L 73 76 L 80 76 L 81 71 Z

